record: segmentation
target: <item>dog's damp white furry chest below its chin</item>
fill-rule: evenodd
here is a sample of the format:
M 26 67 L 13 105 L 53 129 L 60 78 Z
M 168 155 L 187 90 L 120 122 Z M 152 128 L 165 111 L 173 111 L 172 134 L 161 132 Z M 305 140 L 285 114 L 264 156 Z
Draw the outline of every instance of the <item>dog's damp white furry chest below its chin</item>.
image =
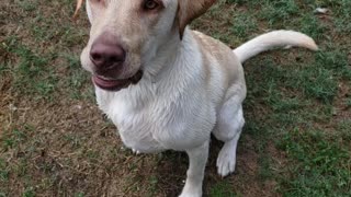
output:
M 100 108 L 117 126 L 126 147 L 145 153 L 184 150 L 201 146 L 210 137 L 216 118 L 204 97 L 199 97 L 201 102 L 189 101 L 197 97 L 196 93 L 173 100 L 143 97 L 134 101 L 122 93 L 109 96 L 97 91 Z

